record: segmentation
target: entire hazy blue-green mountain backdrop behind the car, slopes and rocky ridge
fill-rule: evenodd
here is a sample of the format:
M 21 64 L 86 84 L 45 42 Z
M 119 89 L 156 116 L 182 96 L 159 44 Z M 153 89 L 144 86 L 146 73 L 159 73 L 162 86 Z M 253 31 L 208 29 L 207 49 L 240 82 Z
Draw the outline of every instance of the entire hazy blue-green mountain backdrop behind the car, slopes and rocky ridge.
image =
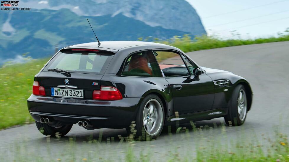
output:
M 94 42 L 86 18 L 100 41 L 206 34 L 196 11 L 183 0 L 23 0 L 19 7 L 32 9 L 1 11 L 0 64 L 21 60 L 19 55 L 27 52 L 33 58 L 50 57 L 56 46 Z

